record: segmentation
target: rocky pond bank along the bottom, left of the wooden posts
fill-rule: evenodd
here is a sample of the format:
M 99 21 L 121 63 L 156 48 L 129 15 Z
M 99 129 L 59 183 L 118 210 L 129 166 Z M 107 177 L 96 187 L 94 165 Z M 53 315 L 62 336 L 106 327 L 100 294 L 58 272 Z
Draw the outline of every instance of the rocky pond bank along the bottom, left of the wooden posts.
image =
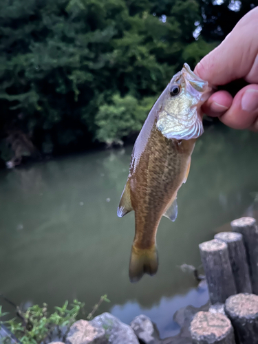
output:
M 201 310 L 208 310 L 208 304 L 201 308 L 191 305 L 178 310 L 173 320 L 180 325 L 180 333 L 169 338 L 160 338 L 158 329 L 143 314 L 136 316 L 130 325 L 122 323 L 116 316 L 103 313 L 92 321 L 79 320 L 70 328 L 65 341 L 55 336 L 45 343 L 57 344 L 191 344 L 190 323 Z

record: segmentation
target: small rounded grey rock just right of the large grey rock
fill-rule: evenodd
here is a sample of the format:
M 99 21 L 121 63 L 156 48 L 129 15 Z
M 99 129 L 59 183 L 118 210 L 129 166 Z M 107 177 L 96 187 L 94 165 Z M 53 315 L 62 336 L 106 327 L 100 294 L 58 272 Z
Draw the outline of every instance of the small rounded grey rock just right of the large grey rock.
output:
M 144 344 L 160 343 L 158 330 L 146 315 L 138 315 L 131 322 L 131 328 Z

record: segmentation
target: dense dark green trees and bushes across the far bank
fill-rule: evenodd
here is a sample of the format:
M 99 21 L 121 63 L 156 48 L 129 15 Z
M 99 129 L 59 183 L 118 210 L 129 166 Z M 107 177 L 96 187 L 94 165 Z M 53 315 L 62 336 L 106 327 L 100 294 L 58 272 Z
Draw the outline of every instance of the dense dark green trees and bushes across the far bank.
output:
M 257 5 L 1 0 L 1 138 L 18 160 L 32 153 L 30 141 L 41 153 L 120 142 L 140 130 L 184 61 L 194 67 Z

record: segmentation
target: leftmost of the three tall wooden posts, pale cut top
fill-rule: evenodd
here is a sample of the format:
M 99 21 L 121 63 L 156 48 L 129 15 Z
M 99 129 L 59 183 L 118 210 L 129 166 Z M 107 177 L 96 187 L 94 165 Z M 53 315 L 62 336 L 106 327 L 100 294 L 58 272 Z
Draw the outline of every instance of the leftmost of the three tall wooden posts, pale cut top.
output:
M 228 246 L 213 239 L 203 242 L 199 248 L 211 303 L 224 303 L 230 295 L 237 292 L 228 257 Z

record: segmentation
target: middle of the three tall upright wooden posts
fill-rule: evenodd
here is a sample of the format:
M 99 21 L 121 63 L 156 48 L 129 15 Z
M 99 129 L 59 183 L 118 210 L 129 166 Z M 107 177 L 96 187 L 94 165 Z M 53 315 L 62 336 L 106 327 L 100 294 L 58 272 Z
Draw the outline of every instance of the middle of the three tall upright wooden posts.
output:
M 243 236 L 240 233 L 222 232 L 216 234 L 215 239 L 224 241 L 228 245 L 228 255 L 237 293 L 252 292 Z

